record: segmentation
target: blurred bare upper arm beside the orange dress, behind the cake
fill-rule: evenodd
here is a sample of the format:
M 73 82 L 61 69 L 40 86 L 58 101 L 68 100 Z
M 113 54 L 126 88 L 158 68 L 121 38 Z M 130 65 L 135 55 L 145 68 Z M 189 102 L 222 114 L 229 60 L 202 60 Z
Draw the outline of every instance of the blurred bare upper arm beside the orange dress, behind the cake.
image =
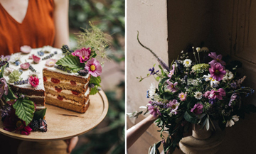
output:
M 55 24 L 55 41 L 53 47 L 61 48 L 69 44 L 68 0 L 54 0 L 53 19 Z

